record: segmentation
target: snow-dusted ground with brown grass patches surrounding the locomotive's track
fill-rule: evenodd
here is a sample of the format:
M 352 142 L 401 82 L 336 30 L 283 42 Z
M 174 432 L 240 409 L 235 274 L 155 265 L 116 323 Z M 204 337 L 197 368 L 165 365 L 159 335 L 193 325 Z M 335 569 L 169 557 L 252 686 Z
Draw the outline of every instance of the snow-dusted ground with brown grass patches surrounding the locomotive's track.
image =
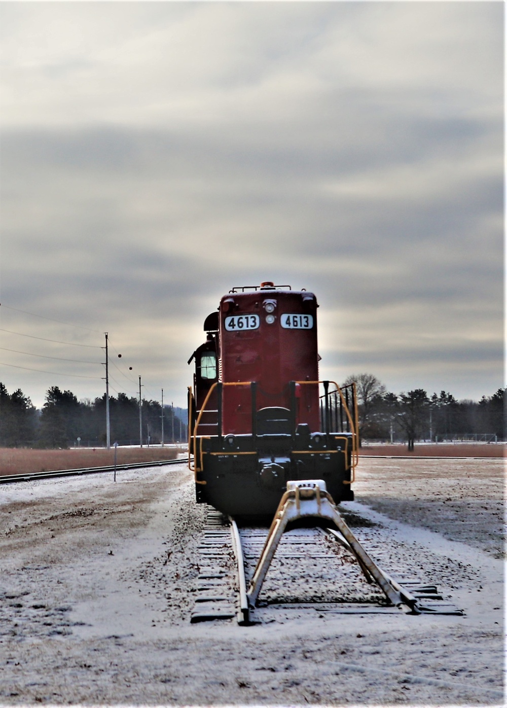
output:
M 362 459 L 343 505 L 387 571 L 464 617 L 191 625 L 203 509 L 183 464 L 0 489 L 1 704 L 503 704 L 502 459 Z

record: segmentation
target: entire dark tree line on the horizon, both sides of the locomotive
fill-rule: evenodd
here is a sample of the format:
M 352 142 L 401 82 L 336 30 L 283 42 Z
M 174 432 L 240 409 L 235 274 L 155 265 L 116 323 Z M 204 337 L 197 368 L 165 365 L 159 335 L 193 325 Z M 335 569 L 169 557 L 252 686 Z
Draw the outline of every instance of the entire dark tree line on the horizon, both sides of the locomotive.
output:
M 457 401 L 441 391 L 428 396 L 423 389 L 394 394 L 372 374 L 349 376 L 358 396 L 360 440 L 407 442 L 445 440 L 457 436 L 489 435 L 505 438 L 506 389 L 480 401 Z M 110 396 L 110 440 L 139 444 L 139 401 Z M 159 401 L 142 401 L 142 442 L 161 442 L 162 408 Z M 186 421 L 164 406 L 164 442 L 186 440 Z M 38 411 L 21 389 L 9 394 L 0 383 L 0 445 L 2 447 L 69 447 L 106 442 L 106 394 L 94 401 L 78 401 L 71 391 L 53 386 Z M 486 440 L 488 438 L 485 438 Z

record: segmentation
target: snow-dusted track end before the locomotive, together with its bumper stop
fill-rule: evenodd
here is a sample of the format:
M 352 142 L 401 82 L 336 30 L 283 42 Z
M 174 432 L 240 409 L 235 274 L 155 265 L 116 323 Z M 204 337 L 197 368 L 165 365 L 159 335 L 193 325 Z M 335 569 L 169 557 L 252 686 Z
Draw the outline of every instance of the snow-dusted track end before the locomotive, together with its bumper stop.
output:
M 314 487 L 303 489 L 309 501 Z M 412 615 L 462 615 L 433 584 L 414 577 L 394 578 L 382 570 L 336 507 L 332 511 L 337 516 L 332 519 L 321 513 L 326 501 L 324 490 L 319 493 L 318 504 L 315 496 L 314 506 L 320 506 L 320 512 L 308 509 L 305 515 L 304 496 L 284 495 L 269 532 L 266 527 L 237 524 L 210 508 L 199 549 L 198 595 L 191 622 L 233 617 L 239 624 L 263 622 L 266 612 L 276 608 L 347 614 L 402 611 Z M 283 506 L 290 499 L 292 519 L 286 515 L 285 524 L 280 523 Z M 303 518 L 300 527 L 284 532 L 289 520 Z M 323 520 L 328 527 L 323 526 Z M 263 586 L 268 569 L 268 582 Z

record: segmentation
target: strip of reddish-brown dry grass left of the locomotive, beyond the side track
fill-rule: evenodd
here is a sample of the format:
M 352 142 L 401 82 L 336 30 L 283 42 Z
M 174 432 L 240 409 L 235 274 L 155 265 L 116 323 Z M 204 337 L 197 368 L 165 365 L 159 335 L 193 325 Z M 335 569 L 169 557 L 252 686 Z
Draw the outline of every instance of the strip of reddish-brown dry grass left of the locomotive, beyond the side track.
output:
M 161 459 L 175 459 L 178 452 L 176 447 L 118 447 L 116 462 L 157 462 Z M 114 449 L 106 450 L 105 447 L 72 447 L 69 450 L 0 448 L 0 475 L 106 467 L 114 462 Z

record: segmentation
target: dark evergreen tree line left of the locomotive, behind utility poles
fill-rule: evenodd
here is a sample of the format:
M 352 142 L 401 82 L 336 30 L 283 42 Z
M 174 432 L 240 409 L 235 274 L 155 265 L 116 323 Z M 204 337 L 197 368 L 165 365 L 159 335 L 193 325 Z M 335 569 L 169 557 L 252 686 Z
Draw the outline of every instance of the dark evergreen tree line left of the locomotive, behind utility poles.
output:
M 159 401 L 142 401 L 142 443 L 159 444 L 162 407 Z M 119 445 L 139 445 L 139 401 L 118 394 L 109 397 L 110 440 Z M 164 406 L 164 442 L 186 440 L 186 422 L 171 406 Z M 78 440 L 79 438 L 79 440 Z M 9 394 L 0 383 L 1 447 L 70 447 L 106 443 L 106 394 L 94 401 L 78 401 L 72 391 L 57 386 L 47 390 L 38 411 L 21 389 Z

